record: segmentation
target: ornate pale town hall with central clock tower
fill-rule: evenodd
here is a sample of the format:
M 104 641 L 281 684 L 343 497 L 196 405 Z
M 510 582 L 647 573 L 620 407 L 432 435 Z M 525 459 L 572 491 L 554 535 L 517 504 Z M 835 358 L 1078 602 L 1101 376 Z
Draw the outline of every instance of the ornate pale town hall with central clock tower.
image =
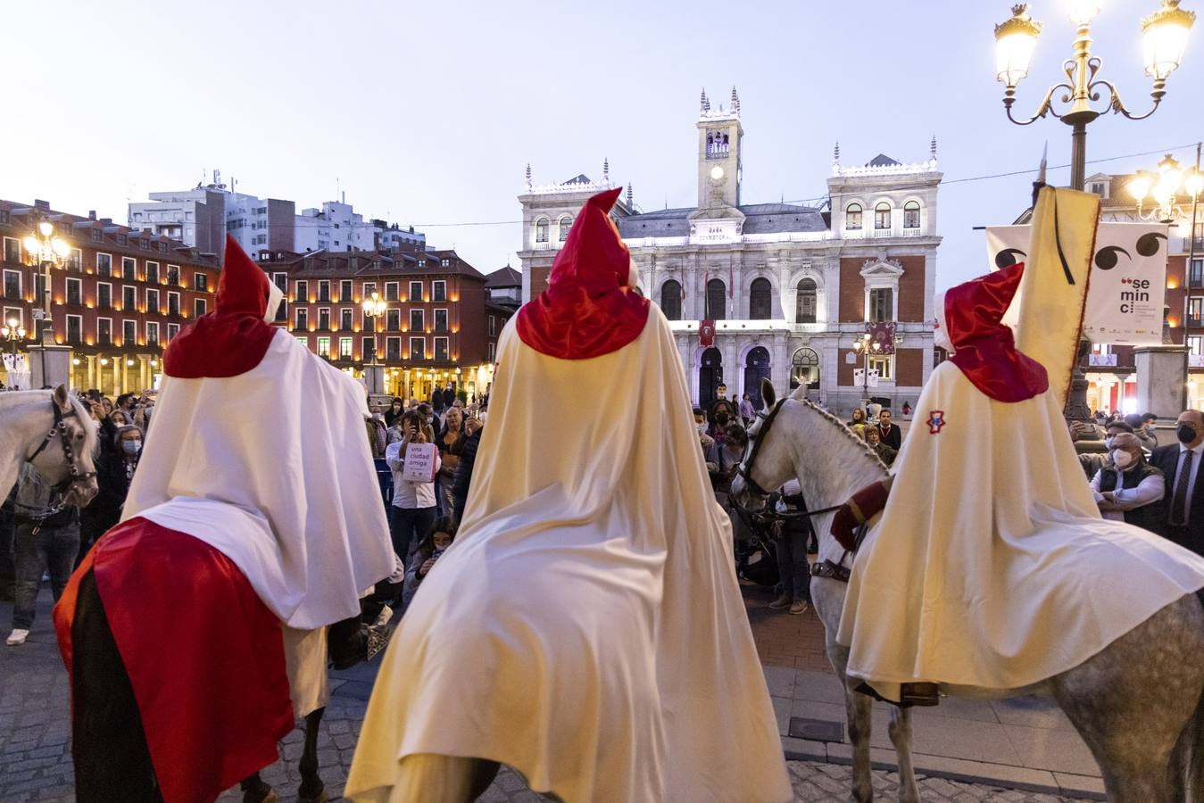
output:
M 642 212 L 628 185 L 612 212 L 641 288 L 671 321 L 695 402 L 707 406 L 724 382 L 756 403 L 768 377 L 779 391 L 807 385 L 814 400 L 850 409 L 864 391 L 855 368 L 866 364 L 852 344 L 867 323 L 892 321 L 902 343 L 870 359 L 880 379 L 864 395 L 915 405 L 933 365 L 925 321 L 940 244 L 936 140 L 929 158 L 913 165 L 878 155 L 846 166 L 838 147 L 818 206 L 746 203 L 736 90 L 726 110 L 703 93 L 696 128 L 697 205 Z M 601 182 L 578 176 L 545 187 L 527 169 L 519 195 L 524 301 L 547 287 L 582 203 L 612 185 L 607 164 Z M 710 346 L 700 338 L 704 319 L 715 321 Z

